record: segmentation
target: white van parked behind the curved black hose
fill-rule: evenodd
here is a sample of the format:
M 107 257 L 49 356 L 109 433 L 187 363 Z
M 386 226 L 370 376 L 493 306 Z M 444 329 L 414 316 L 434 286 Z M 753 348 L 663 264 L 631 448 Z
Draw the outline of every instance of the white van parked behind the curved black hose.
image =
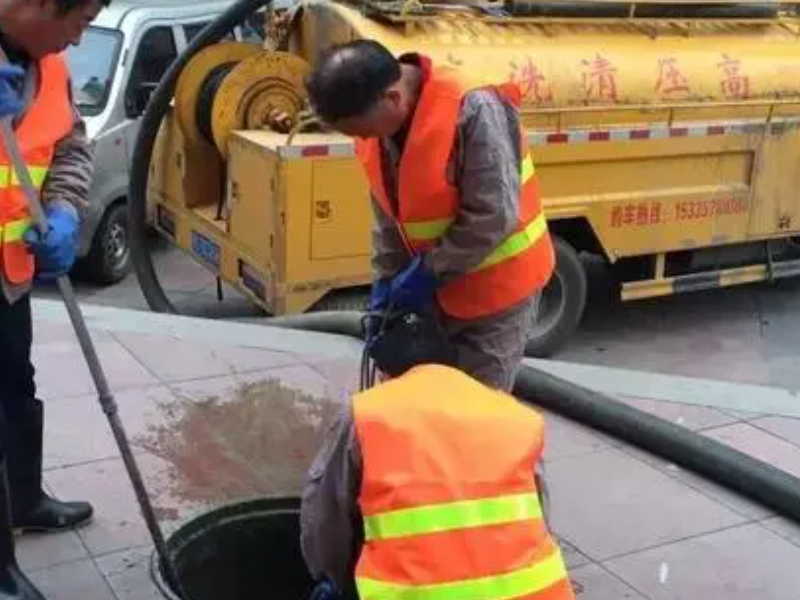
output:
M 150 94 L 189 40 L 231 0 L 113 0 L 67 52 L 75 102 L 95 149 L 95 177 L 76 271 L 96 283 L 130 270 L 126 196 L 139 118 Z M 237 28 L 260 43 L 262 23 Z

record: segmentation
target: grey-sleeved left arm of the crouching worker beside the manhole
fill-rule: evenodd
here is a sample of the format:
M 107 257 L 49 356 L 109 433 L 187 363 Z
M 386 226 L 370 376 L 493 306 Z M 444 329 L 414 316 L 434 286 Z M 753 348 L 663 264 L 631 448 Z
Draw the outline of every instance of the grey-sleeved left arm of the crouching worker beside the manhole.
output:
M 303 490 L 300 541 L 315 580 L 331 579 L 350 589 L 364 539 L 358 492 L 361 450 L 352 407 L 341 412 L 314 459 Z

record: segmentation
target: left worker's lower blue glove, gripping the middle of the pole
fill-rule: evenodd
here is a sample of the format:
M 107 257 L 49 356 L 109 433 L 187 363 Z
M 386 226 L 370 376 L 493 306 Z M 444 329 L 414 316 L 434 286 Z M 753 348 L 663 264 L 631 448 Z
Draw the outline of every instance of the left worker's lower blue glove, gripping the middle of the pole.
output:
M 47 233 L 37 227 L 25 232 L 24 239 L 36 256 L 36 279 L 52 281 L 65 275 L 75 263 L 78 246 L 78 219 L 73 210 L 51 204 L 45 210 Z

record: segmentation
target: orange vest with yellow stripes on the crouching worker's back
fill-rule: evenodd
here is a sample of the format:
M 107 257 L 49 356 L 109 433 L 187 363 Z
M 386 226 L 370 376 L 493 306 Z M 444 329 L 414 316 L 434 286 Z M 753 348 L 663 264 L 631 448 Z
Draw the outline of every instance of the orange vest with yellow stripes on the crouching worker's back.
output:
M 355 396 L 361 600 L 574 600 L 534 467 L 543 420 L 438 365 Z

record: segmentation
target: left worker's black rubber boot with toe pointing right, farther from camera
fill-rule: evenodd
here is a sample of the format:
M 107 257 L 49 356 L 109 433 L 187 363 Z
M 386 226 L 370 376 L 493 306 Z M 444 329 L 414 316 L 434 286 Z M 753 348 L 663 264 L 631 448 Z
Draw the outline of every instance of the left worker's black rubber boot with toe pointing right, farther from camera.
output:
M 33 400 L 13 420 L 9 418 L 8 429 L 8 483 L 14 529 L 49 532 L 88 523 L 93 513 L 88 502 L 61 502 L 42 490 L 42 402 Z

